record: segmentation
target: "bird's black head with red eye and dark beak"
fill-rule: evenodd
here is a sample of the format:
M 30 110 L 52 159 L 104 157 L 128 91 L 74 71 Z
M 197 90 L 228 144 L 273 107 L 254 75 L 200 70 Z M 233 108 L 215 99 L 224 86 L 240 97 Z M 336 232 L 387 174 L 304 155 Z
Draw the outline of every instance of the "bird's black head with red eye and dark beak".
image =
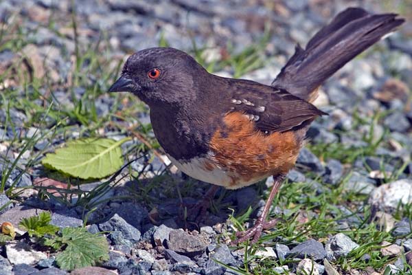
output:
M 130 91 L 149 107 L 180 107 L 196 100 L 197 79 L 207 74 L 194 58 L 171 47 L 141 50 L 128 58 L 109 91 Z

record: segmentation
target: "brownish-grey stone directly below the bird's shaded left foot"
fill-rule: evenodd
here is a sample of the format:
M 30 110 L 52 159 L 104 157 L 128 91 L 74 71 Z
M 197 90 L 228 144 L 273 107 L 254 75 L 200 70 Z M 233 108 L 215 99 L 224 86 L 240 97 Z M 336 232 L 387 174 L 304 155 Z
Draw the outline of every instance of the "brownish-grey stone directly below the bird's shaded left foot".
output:
M 166 241 L 168 248 L 183 254 L 200 254 L 205 251 L 208 243 L 201 235 L 193 236 L 183 230 L 172 230 Z

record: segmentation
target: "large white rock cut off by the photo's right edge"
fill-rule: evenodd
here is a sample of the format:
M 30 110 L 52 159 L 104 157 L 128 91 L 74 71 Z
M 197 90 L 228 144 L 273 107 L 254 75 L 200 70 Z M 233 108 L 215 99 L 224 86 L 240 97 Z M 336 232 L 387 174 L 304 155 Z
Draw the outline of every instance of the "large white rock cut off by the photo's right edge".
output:
M 384 210 L 396 210 L 399 202 L 412 203 L 412 180 L 400 179 L 382 184 L 371 192 L 369 203 Z

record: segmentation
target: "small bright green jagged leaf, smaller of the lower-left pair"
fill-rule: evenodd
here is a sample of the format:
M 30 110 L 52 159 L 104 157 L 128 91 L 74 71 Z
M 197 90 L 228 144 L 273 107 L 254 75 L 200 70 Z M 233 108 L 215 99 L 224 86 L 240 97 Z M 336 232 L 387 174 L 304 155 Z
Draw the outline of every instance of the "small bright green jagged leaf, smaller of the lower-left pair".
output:
M 21 219 L 19 225 L 27 230 L 30 236 L 44 236 L 45 234 L 56 234 L 60 229 L 58 226 L 49 224 L 52 215 L 49 212 L 41 212 L 38 216 Z

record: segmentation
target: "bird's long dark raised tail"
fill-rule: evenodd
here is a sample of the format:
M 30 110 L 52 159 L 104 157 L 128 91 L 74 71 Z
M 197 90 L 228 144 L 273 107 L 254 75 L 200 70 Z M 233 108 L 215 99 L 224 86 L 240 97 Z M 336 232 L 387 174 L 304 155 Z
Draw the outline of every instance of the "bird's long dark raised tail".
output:
M 272 85 L 311 101 L 327 78 L 404 23 L 397 15 L 369 14 L 361 8 L 344 10 L 310 39 L 305 50 L 296 46 Z

